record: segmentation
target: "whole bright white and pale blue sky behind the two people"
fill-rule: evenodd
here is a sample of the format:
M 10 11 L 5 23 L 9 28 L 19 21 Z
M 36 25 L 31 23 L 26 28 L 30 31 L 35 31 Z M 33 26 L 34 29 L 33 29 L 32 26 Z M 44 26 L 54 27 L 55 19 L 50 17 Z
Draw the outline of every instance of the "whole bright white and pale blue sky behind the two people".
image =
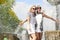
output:
M 29 8 L 32 5 L 40 5 L 42 7 L 42 11 L 44 11 L 46 15 L 51 16 L 53 18 L 56 17 L 55 6 L 52 6 L 46 0 L 15 0 L 15 5 L 13 6 L 13 10 L 19 19 L 25 20 Z M 54 22 L 45 18 L 44 28 L 45 30 L 55 30 Z

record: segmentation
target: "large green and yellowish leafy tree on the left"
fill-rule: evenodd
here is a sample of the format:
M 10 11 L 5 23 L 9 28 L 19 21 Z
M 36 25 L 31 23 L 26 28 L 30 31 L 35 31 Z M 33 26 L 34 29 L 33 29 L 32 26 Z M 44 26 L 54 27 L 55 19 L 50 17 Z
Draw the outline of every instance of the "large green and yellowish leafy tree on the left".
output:
M 0 33 L 14 32 L 20 20 L 11 9 L 14 0 L 0 0 Z

